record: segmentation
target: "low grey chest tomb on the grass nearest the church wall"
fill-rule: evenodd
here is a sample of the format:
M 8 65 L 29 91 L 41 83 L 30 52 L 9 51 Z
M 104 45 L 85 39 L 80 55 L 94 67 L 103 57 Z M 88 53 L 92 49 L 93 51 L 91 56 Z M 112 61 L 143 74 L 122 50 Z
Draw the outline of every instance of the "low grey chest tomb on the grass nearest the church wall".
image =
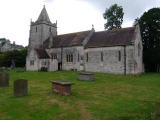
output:
M 80 72 L 78 80 L 93 81 L 95 80 L 95 74 L 90 72 Z

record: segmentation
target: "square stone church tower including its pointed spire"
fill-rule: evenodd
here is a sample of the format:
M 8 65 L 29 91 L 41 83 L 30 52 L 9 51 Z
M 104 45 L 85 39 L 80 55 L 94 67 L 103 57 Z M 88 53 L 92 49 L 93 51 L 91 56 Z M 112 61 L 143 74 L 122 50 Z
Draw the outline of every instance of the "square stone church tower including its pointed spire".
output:
M 57 35 L 57 23 L 49 19 L 45 6 L 43 7 L 37 21 L 30 25 L 29 49 L 41 48 L 43 42 L 50 36 Z

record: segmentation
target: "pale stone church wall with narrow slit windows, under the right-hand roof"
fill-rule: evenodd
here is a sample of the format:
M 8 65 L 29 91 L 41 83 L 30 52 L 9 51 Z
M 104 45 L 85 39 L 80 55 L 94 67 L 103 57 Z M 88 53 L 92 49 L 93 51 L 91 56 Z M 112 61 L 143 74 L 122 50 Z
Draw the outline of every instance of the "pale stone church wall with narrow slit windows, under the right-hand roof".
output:
M 85 70 L 115 74 L 136 74 L 134 52 L 134 45 L 85 49 Z

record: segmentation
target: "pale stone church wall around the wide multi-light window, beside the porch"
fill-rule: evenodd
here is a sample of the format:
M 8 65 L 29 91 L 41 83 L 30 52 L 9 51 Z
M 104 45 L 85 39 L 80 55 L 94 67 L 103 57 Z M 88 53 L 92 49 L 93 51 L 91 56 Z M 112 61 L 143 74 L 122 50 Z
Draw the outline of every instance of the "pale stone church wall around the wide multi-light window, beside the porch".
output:
M 83 70 L 84 50 L 82 46 L 47 49 L 50 57 L 57 55 L 57 63 L 62 62 L 63 70 Z M 67 62 L 67 54 L 73 54 L 73 62 Z

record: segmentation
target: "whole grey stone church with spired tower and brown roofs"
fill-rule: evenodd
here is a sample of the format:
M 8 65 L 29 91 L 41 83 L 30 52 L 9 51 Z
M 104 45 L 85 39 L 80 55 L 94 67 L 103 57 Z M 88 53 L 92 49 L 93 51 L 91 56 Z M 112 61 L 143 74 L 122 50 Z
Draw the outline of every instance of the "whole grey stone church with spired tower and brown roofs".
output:
M 44 6 L 37 21 L 31 21 L 26 69 L 140 74 L 142 51 L 138 24 L 57 35 L 57 23 L 50 21 Z

